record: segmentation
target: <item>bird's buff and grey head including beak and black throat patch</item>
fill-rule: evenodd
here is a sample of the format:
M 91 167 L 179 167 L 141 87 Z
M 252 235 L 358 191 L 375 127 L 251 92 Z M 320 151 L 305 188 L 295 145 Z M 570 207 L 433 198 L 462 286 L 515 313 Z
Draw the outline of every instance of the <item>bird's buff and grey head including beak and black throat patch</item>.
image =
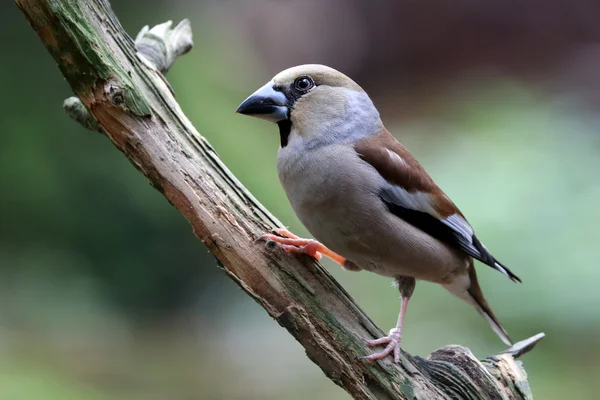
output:
M 341 72 L 317 64 L 280 72 L 244 100 L 237 112 L 277 123 L 282 147 L 290 135 L 326 143 L 356 140 L 381 128 L 367 93 Z

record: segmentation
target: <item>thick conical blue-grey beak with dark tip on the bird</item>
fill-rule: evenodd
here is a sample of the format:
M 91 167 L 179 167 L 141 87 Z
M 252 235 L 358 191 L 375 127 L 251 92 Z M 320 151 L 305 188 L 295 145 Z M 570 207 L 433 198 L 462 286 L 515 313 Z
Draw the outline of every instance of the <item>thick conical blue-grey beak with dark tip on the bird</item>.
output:
M 273 89 L 273 82 L 268 82 L 244 100 L 236 112 L 271 122 L 280 122 L 289 118 L 288 99 L 283 92 Z

